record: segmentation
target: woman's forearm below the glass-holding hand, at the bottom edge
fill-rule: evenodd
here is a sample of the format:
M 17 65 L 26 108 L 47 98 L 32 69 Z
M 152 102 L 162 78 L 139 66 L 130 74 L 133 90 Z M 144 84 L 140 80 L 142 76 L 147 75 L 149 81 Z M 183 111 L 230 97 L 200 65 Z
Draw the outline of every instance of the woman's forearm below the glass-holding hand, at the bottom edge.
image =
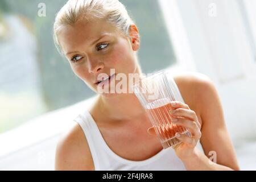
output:
M 189 171 L 229 171 L 233 170 L 230 167 L 223 166 L 221 164 L 216 164 L 212 162 L 210 159 L 207 158 L 203 152 L 195 148 L 195 152 L 192 154 L 191 157 L 186 159 L 181 159 L 185 165 L 185 168 Z

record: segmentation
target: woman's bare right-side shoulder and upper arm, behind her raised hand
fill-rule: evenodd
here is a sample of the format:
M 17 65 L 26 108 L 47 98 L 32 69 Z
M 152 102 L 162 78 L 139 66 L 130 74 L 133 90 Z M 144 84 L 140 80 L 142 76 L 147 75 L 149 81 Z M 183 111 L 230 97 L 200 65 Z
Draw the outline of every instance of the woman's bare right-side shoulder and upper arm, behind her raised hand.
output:
M 215 151 L 218 164 L 239 169 L 221 101 L 213 82 L 201 73 L 184 73 L 174 78 L 185 103 L 196 112 L 200 120 L 200 143 L 205 155 L 210 158 L 211 151 Z

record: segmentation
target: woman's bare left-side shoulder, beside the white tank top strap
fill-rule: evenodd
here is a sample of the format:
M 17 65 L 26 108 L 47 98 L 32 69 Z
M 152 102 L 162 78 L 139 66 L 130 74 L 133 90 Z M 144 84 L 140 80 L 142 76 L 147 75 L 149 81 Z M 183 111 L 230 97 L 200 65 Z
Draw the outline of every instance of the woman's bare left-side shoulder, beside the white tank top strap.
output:
M 94 170 L 86 137 L 78 123 L 68 129 L 57 144 L 55 170 Z

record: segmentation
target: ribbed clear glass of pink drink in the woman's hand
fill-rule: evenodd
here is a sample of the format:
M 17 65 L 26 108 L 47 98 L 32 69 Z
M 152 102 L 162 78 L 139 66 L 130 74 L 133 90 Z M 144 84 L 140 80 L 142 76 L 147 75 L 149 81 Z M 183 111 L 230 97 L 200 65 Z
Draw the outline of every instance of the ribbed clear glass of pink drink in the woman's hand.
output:
M 133 91 L 144 107 L 163 148 L 180 143 L 175 137 L 177 132 L 191 136 L 185 127 L 172 123 L 170 110 L 173 109 L 171 101 L 175 101 L 175 88 L 168 84 L 166 74 L 165 71 L 156 72 L 151 76 L 141 77 L 133 85 Z

